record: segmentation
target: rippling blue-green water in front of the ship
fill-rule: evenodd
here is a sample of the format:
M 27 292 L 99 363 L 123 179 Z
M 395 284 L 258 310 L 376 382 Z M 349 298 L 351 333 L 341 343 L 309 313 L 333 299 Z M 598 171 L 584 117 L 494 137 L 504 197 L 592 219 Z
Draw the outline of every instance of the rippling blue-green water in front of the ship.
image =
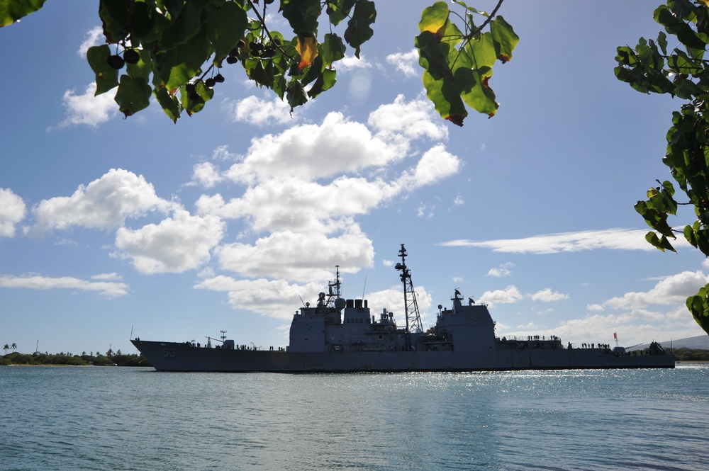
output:
M 705 470 L 709 365 L 506 373 L 0 367 L 0 470 Z

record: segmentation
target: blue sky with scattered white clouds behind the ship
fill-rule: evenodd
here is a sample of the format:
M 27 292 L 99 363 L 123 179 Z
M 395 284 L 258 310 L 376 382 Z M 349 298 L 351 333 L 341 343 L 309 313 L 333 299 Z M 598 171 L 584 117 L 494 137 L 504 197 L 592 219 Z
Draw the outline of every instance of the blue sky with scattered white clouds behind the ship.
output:
M 669 178 L 682 102 L 613 74 L 616 47 L 657 37 L 657 5 L 505 1 L 520 43 L 489 81 L 501 106 L 457 127 L 425 97 L 413 47 L 431 3 L 376 1 L 362 58 L 348 50 L 335 87 L 292 114 L 235 64 L 177 124 L 157 103 L 124 119 L 93 96 L 96 2 L 48 1 L 0 28 L 0 344 L 135 353 L 131 336 L 226 331 L 286 346 L 335 266 L 344 297 L 403 325 L 401 244 L 424 327 L 458 289 L 498 336 L 703 334 L 684 303 L 709 263 L 649 246 L 633 209 Z

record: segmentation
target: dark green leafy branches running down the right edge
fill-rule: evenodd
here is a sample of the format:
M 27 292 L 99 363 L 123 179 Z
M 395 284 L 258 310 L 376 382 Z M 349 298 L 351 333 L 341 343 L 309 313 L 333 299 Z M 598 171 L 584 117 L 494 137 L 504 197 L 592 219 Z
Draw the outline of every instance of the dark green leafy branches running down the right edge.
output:
M 635 210 L 653 229 L 647 242 L 665 251 L 676 251 L 670 239 L 676 232 L 669 215 L 678 205 L 692 205 L 696 220 L 684 226 L 683 237 L 709 256 L 709 7 L 704 0 L 669 0 L 654 11 L 654 20 L 664 27 L 657 40 L 640 38 L 635 48 L 618 47 L 615 76 L 642 93 L 664 93 L 686 100 L 672 113 L 672 126 L 662 161 L 688 201 L 678 203 L 672 183 L 664 181 L 647 191 Z M 668 35 L 676 46 L 669 47 Z M 709 285 L 687 300 L 700 326 L 709 332 Z

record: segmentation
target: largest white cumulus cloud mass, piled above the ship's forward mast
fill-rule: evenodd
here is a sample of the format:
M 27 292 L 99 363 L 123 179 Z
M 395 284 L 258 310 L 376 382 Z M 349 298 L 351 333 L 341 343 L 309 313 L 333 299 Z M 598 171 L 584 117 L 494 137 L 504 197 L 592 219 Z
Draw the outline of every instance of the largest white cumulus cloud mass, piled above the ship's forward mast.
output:
M 235 241 L 214 249 L 219 268 L 252 279 L 313 282 L 321 290 L 335 265 L 348 273 L 373 266 L 373 244 L 357 217 L 462 166 L 440 143 L 447 130 L 439 122 L 432 106 L 398 96 L 367 123 L 332 112 L 321 123 L 253 139 L 224 171 L 201 164 L 194 181 L 208 185 L 225 177 L 220 183 L 244 188 L 231 198 L 219 192 L 196 201 L 197 214 L 243 225 Z M 249 299 L 249 283 L 205 278 L 200 288 Z

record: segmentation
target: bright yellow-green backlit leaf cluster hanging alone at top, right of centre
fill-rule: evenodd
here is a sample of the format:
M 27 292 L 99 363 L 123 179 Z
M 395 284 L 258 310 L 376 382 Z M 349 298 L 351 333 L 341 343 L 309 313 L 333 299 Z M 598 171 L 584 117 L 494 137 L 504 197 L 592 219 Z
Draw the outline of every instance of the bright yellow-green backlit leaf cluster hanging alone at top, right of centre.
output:
M 502 0 L 491 14 L 460 0 L 454 3 L 462 6 L 463 14 L 450 10 L 444 1 L 425 8 L 415 45 L 428 98 L 442 118 L 462 126 L 466 105 L 490 118 L 497 113 L 499 105 L 489 86 L 492 67 L 498 60 L 512 59 L 519 37 L 502 16 L 495 16 Z M 476 25 L 477 17 L 484 18 L 481 25 Z M 489 30 L 484 32 L 486 26 Z

